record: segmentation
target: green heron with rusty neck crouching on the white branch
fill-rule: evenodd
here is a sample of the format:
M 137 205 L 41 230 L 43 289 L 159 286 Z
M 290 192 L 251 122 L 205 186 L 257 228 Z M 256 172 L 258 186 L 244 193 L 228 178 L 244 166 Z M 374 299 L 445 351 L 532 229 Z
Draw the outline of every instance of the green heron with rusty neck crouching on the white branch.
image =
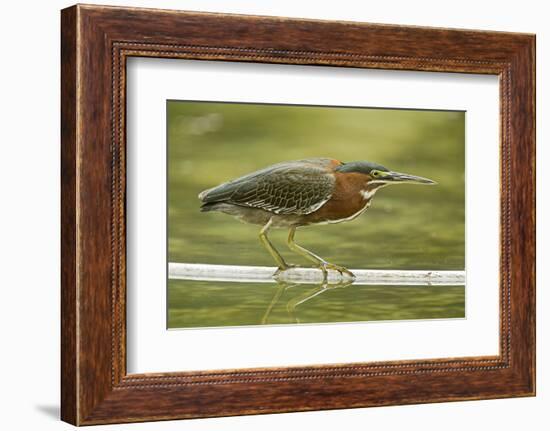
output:
M 294 242 L 296 228 L 341 223 L 361 215 L 375 193 L 390 184 L 436 184 L 427 178 L 393 172 L 376 163 L 342 163 L 328 158 L 277 163 L 199 194 L 201 211 L 220 211 L 246 223 L 263 226 L 260 240 L 280 271 L 291 268 L 273 246 L 270 228 L 288 228 L 288 247 L 323 272 L 338 271 L 355 278 L 348 269 L 329 263 Z

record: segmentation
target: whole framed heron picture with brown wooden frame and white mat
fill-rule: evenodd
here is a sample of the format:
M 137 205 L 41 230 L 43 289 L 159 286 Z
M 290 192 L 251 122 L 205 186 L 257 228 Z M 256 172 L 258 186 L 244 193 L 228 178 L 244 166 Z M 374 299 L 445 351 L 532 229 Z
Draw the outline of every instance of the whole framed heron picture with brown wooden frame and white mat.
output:
M 62 419 L 535 394 L 535 37 L 62 17 Z

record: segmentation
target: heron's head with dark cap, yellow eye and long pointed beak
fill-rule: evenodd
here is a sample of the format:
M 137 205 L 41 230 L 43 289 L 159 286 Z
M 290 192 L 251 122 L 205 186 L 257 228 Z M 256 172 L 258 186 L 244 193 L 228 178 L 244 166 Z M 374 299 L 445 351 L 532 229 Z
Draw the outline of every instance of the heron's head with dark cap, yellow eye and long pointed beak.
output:
M 366 161 L 343 163 L 336 168 L 336 171 L 343 174 L 362 174 L 368 190 L 376 190 L 390 184 L 437 184 L 428 178 L 391 171 L 382 165 Z

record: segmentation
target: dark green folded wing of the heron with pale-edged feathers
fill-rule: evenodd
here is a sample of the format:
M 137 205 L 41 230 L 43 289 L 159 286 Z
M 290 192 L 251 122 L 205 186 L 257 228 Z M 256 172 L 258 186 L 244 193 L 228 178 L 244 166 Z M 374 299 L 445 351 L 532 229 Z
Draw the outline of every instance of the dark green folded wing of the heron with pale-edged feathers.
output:
M 227 202 L 275 214 L 310 214 L 332 195 L 334 175 L 308 160 L 280 163 L 199 195 L 203 203 Z

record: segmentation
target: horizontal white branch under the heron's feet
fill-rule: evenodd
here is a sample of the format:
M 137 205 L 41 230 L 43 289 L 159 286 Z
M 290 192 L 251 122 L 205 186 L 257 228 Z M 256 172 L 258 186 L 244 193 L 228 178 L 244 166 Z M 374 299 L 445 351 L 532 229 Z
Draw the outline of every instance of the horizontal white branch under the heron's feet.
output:
M 277 268 L 269 266 L 210 265 L 200 263 L 168 264 L 168 278 L 172 280 L 227 281 L 240 283 L 286 283 L 320 284 L 321 270 L 316 268 L 291 268 L 273 277 Z M 393 286 L 463 286 L 465 271 L 402 271 L 380 269 L 352 269 L 353 284 Z M 329 271 L 328 282 L 351 281 L 346 275 Z

